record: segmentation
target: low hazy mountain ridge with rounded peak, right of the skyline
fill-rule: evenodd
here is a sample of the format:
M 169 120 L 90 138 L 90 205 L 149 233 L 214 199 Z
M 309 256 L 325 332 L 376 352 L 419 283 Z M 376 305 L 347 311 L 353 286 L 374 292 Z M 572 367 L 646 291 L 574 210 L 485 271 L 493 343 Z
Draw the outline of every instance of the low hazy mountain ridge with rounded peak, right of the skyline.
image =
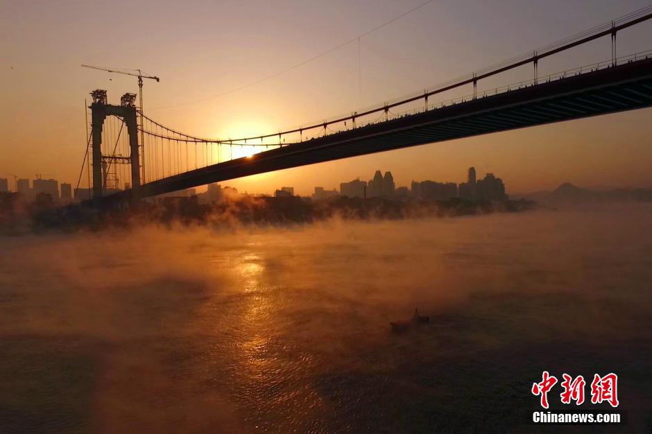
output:
M 523 198 L 540 203 L 652 202 L 652 189 L 583 189 L 564 182 L 554 191 L 537 191 Z

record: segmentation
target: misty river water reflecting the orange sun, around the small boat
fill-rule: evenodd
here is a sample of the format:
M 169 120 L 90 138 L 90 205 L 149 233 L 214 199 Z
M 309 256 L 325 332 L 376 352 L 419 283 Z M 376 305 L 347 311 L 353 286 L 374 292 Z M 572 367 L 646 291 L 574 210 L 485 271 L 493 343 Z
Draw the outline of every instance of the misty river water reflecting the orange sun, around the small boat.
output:
M 651 221 L 614 205 L 1 237 L 0 432 L 532 432 L 542 370 L 616 372 L 617 428 L 646 432 Z M 431 324 L 391 333 L 415 308 Z

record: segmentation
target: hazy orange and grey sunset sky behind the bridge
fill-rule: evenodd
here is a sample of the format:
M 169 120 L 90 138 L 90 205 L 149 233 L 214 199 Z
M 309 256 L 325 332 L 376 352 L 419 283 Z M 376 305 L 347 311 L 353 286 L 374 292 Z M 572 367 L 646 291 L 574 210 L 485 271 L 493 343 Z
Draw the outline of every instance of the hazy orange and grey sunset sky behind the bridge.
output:
M 435 0 L 329 55 L 253 83 L 368 32 L 424 0 L 30 1 L 0 0 L 0 177 L 76 184 L 85 152 L 84 99 L 108 89 L 117 103 L 135 78 L 80 64 L 140 68 L 153 119 L 203 137 L 237 137 L 350 113 L 531 51 L 649 4 L 644 0 Z M 618 55 L 652 49 L 652 21 L 618 35 Z M 610 58 L 605 38 L 540 74 Z M 531 78 L 531 67 L 481 84 Z M 359 86 L 359 76 L 361 86 Z M 112 81 L 109 79 L 112 78 Z M 471 92 L 465 89 L 464 94 Z M 467 166 L 494 172 L 508 192 L 582 186 L 652 186 L 652 110 L 447 141 L 257 175 L 232 182 L 269 193 L 327 189 L 379 168 L 397 185 L 460 182 Z M 85 186 L 83 184 L 83 186 Z

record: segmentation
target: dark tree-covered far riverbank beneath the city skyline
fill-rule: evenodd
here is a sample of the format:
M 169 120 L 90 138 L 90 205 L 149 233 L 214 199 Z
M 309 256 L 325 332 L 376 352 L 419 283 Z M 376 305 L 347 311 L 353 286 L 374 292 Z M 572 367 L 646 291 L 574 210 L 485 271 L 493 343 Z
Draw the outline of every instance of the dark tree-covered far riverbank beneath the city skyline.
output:
M 125 209 L 95 209 L 85 205 L 32 208 L 3 220 L 5 234 L 44 231 L 100 230 L 110 227 L 137 227 L 144 223 L 164 225 L 302 225 L 341 218 L 344 220 L 401 220 L 404 218 L 456 217 L 511 213 L 533 209 L 529 200 L 468 202 L 385 198 L 311 200 L 241 196 L 209 205 L 194 197 L 163 198 L 141 202 Z

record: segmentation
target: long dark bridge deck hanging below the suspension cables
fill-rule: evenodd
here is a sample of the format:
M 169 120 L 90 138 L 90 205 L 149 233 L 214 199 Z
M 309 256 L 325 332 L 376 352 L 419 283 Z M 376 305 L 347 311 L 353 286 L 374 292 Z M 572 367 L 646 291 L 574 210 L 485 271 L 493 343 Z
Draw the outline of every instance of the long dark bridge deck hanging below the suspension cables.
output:
M 140 197 L 386 150 L 652 106 L 652 59 L 582 73 L 330 134 L 182 173 L 141 187 Z M 123 191 L 104 200 L 125 200 Z

